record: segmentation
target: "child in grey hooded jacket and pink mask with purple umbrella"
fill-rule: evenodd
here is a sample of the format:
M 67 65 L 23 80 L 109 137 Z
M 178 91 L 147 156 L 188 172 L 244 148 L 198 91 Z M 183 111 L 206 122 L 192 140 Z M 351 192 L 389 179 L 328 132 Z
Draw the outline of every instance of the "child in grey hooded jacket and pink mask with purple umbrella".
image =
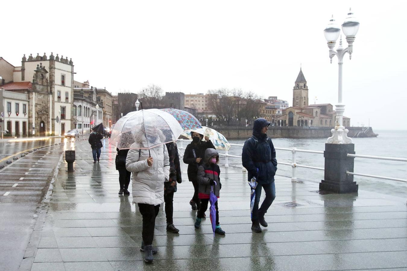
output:
M 199 228 L 202 218 L 206 210 L 208 209 L 209 195 L 212 187 L 214 188 L 214 194 L 219 199 L 219 192 L 222 188 L 222 184 L 219 178 L 221 170 L 217 165 L 219 163 L 219 153 L 214 149 L 205 150 L 205 163 L 198 168 L 198 182 L 199 192 L 198 197 L 201 200 L 201 208 L 198 210 L 197 219 L 195 221 L 195 228 Z M 219 224 L 219 210 L 218 201 L 215 202 L 216 209 L 216 228 L 215 233 L 224 235 L 225 231 L 222 230 Z M 213 218 L 212 218 L 213 219 Z

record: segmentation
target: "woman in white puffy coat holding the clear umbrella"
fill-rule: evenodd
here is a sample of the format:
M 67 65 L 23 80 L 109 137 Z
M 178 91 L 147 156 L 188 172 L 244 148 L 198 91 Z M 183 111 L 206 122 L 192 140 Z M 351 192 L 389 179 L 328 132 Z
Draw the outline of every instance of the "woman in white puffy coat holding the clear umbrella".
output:
M 152 254 L 157 253 L 157 249 L 152 247 L 155 217 L 160 210 L 160 204 L 164 202 L 164 182 L 169 180 L 170 174 L 166 145 L 160 144 L 159 137 L 155 141 L 153 140 L 154 138 L 149 138 L 149 145 L 158 145 L 157 147 L 153 147 L 150 151 L 146 149 L 134 150 L 130 147 L 126 159 L 126 169 L 133 172 L 131 182 L 133 203 L 138 204 L 143 217 L 141 250 L 144 251 L 146 262 L 152 262 Z M 140 143 L 134 143 L 132 146 L 140 146 Z

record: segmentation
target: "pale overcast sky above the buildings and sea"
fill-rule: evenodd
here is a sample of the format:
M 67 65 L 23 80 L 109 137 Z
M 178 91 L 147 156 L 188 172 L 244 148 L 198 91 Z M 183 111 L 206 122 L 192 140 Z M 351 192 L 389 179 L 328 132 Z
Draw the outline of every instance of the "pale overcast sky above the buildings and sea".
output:
M 0 56 L 50 52 L 74 61 L 75 80 L 113 94 L 150 84 L 206 93 L 241 88 L 292 105 L 300 63 L 309 102 L 337 102 L 337 59 L 323 30 L 349 7 L 360 21 L 344 60 L 351 122 L 404 129 L 406 19 L 402 1 L 3 1 Z M 339 41 L 339 40 L 338 40 Z M 346 46 L 344 39 L 344 45 Z

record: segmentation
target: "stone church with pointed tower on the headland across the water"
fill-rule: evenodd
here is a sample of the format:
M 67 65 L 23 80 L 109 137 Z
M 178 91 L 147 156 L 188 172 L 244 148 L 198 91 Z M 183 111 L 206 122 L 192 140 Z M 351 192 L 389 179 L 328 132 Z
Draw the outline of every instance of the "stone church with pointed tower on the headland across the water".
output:
M 293 88 L 293 106 L 277 117 L 277 126 L 335 127 L 336 112 L 332 104 L 311 104 L 308 100 L 308 85 L 302 69 Z M 350 126 L 350 118 L 343 117 L 343 126 Z

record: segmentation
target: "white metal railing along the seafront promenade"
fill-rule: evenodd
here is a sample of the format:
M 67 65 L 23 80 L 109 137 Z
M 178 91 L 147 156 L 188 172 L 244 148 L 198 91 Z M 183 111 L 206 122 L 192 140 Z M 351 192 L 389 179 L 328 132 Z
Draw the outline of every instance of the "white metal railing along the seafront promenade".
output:
M 190 140 L 187 139 L 178 139 L 180 142 L 178 149 L 185 149 L 184 148 L 184 142 L 187 141 L 190 143 Z M 243 147 L 243 144 L 230 144 L 231 146 L 239 146 Z M 282 150 L 282 151 L 289 151 L 292 153 L 292 158 L 291 158 L 291 163 L 284 163 L 284 162 L 278 162 L 279 165 L 288 165 L 292 167 L 292 173 L 291 173 L 291 182 L 296 182 L 297 181 L 297 173 L 296 173 L 296 168 L 297 167 L 303 167 L 307 169 L 316 169 L 316 170 L 322 170 L 325 171 L 323 167 L 312 167 L 309 165 L 300 165 L 296 163 L 296 154 L 297 152 L 307 152 L 307 153 L 313 153 L 313 154 L 324 154 L 323 151 L 313 151 L 313 150 L 301 150 L 297 149 L 295 147 L 293 148 L 280 148 L 276 147 L 276 150 Z M 183 154 L 179 153 L 179 155 L 182 157 Z M 224 167 L 229 167 L 229 157 L 234 157 L 234 158 L 242 158 L 242 156 L 237 156 L 237 155 L 230 155 L 228 151 L 225 151 L 224 154 L 219 153 L 220 156 L 225 156 L 225 165 Z M 360 154 L 347 154 L 348 157 L 353 157 L 353 158 L 369 158 L 369 159 L 379 159 L 379 160 L 392 160 L 392 161 L 400 161 L 400 162 L 407 162 L 407 158 L 396 158 L 396 157 L 385 157 L 385 156 L 371 156 L 371 155 L 360 155 Z M 243 171 L 246 171 L 244 167 L 242 167 Z M 364 173 L 355 173 L 355 172 L 350 172 L 346 171 L 347 174 L 350 175 L 355 175 L 355 176 L 363 176 L 363 177 L 370 177 L 370 178 L 379 178 L 379 179 L 384 179 L 384 180 L 394 180 L 398 182 L 406 182 L 407 179 L 400 179 L 400 178 L 392 178 L 392 177 L 385 177 L 385 176 L 377 176 L 377 175 L 372 175 L 372 174 L 364 174 Z

